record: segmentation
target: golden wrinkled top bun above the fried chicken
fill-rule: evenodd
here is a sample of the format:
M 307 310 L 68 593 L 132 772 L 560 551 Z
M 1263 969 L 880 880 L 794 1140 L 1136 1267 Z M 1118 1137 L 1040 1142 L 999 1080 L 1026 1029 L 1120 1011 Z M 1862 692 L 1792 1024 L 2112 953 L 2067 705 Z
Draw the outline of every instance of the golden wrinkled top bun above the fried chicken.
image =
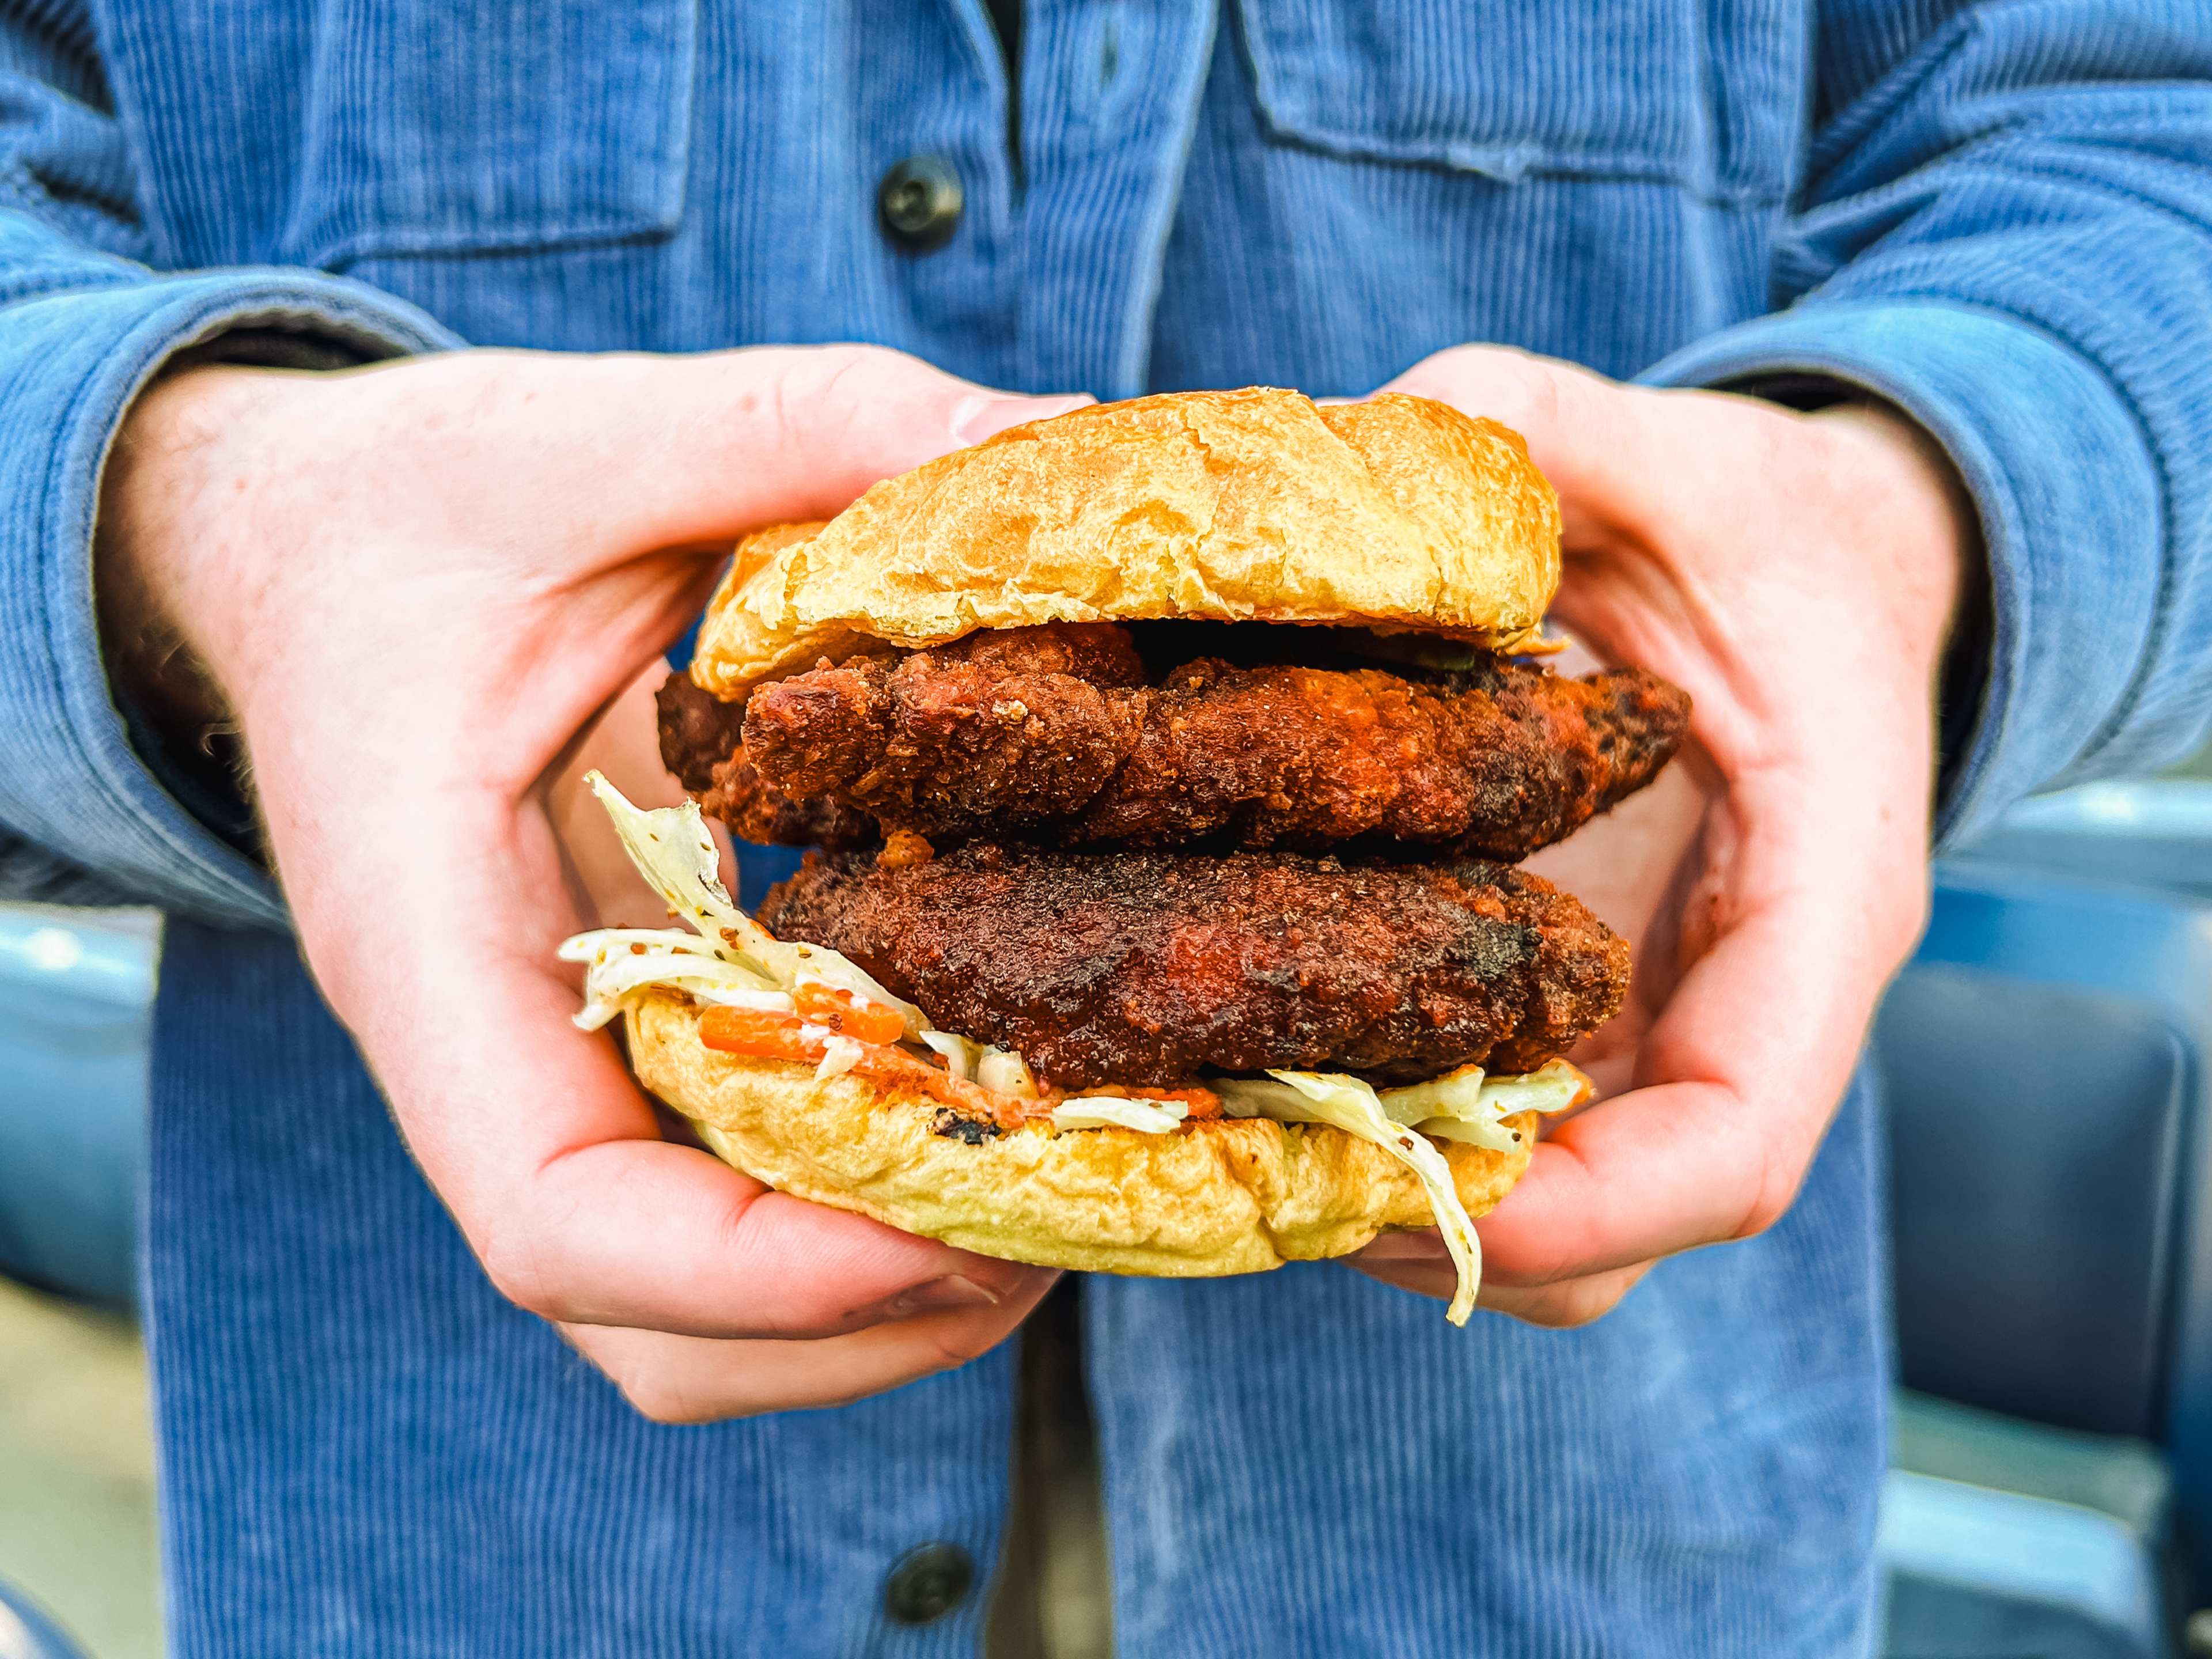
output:
M 1427 398 L 1168 392 L 887 478 L 748 538 L 692 679 L 737 699 L 872 639 L 1212 617 L 1515 650 L 1559 584 L 1559 502 L 1520 436 Z

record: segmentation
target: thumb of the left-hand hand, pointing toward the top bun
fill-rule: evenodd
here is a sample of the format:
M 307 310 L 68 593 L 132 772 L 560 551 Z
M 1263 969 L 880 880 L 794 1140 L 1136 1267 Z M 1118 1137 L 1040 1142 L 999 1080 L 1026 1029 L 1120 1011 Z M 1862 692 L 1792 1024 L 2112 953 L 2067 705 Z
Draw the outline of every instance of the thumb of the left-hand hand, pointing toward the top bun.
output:
M 630 551 L 830 518 L 880 478 L 1091 403 L 995 392 L 876 345 L 518 352 L 502 380 L 533 405 L 549 522 Z

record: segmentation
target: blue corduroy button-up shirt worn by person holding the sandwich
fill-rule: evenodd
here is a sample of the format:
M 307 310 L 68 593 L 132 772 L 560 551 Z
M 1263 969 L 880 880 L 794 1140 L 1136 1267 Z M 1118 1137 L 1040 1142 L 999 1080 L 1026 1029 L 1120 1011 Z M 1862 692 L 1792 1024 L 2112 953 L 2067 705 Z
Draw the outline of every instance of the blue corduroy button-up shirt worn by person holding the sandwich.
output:
M 883 1579 L 995 1559 L 1011 1367 L 666 1429 L 487 1287 L 111 699 L 97 480 L 164 363 L 860 338 L 1358 394 L 1506 341 L 1860 387 L 1989 549 L 1955 836 L 2212 701 L 2208 77 L 2203 0 L 1033 0 L 1013 88 L 980 0 L 0 0 L 0 869 L 173 916 L 179 1659 L 973 1650 L 978 1597 L 902 1628 Z M 876 219 L 909 155 L 962 184 L 929 252 Z M 1340 1267 L 1093 1281 L 1121 1652 L 1863 1650 L 1878 1223 L 1856 1091 L 1781 1225 L 1582 1332 Z

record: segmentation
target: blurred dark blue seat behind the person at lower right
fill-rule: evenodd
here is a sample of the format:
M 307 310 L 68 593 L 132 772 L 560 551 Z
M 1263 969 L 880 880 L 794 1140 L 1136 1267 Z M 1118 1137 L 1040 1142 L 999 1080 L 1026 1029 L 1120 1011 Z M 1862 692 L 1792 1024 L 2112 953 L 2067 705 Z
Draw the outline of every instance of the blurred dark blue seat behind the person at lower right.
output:
M 2212 785 L 2026 803 L 1876 1022 L 1898 1659 L 2159 1659 L 2212 1590 Z

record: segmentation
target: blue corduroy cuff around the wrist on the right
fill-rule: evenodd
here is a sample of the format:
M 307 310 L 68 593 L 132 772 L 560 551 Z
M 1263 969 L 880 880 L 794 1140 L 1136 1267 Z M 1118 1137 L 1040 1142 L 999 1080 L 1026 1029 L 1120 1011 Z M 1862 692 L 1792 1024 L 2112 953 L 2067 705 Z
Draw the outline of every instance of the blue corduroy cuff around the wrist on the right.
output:
M 1989 555 L 1989 677 L 1936 812 L 1969 841 L 2013 801 L 2095 763 L 2135 701 L 2163 611 L 2159 467 L 2086 356 L 1949 301 L 1805 301 L 1646 369 L 1650 385 L 1820 376 L 1911 416 L 1951 458 Z

